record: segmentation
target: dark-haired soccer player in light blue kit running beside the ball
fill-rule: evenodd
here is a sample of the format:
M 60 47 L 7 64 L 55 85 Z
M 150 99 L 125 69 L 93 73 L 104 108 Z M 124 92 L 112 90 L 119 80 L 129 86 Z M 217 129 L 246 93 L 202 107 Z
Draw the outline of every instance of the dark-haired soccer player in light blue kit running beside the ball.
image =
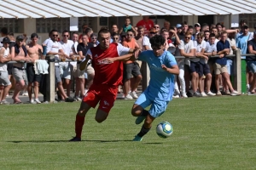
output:
M 179 74 L 177 62 L 174 56 L 165 51 L 166 39 L 156 35 L 150 38 L 153 50 L 143 51 L 138 59 L 148 63 L 150 70 L 150 81 L 148 88 L 139 96 L 132 106 L 132 116 L 137 116 L 136 124 L 144 120 L 143 127 L 134 141 L 142 141 L 143 136 L 148 133 L 152 122 L 161 116 L 172 100 L 174 92 L 174 76 Z M 149 111 L 145 108 L 151 105 Z

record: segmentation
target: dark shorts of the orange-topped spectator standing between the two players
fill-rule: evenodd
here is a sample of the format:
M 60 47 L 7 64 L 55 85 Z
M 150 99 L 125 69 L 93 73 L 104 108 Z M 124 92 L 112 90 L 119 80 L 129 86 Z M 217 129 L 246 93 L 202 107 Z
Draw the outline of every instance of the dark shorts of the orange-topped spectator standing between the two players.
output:
M 129 80 L 130 78 L 141 75 L 140 67 L 137 62 L 130 64 L 124 64 L 124 77 L 123 80 Z

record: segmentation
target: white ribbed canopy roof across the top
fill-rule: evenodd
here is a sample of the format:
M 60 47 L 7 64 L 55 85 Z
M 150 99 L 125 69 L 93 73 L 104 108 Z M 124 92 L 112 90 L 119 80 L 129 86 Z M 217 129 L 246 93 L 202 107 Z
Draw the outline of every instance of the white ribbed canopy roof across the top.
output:
M 254 14 L 255 0 L 0 0 L 1 18 Z

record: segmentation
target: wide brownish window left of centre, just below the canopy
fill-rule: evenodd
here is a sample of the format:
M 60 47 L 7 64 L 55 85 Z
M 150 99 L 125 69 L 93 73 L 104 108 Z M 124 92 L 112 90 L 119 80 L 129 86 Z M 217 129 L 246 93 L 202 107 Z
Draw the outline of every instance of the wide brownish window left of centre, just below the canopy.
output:
M 59 32 L 69 30 L 69 22 L 69 18 L 37 19 L 37 32 L 49 33 L 53 29 Z

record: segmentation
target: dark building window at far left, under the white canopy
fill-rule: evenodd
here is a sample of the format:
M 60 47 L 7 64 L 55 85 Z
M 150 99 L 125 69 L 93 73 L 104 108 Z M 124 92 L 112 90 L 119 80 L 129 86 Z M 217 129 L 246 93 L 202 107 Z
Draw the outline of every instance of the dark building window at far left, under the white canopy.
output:
M 0 28 L 6 27 L 9 32 L 18 33 L 19 30 L 20 19 L 4 19 L 0 20 Z

